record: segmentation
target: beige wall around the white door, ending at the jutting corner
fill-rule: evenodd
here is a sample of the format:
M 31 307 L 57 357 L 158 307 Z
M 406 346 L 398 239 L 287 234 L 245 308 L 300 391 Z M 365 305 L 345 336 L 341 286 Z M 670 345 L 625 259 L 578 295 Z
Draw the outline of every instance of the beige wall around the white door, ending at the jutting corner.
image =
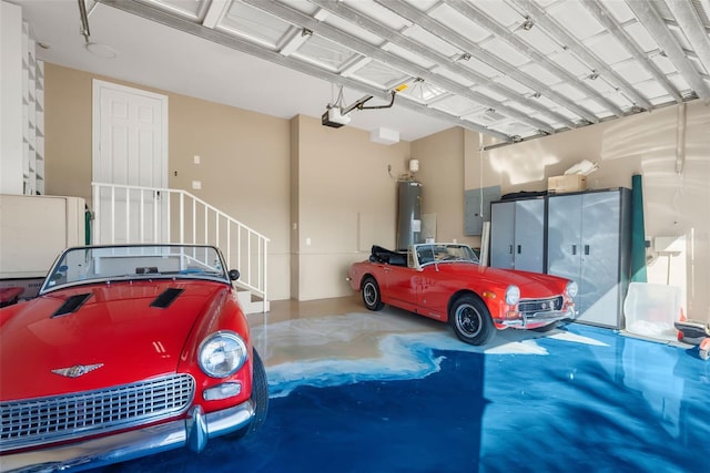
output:
M 169 185 L 184 189 L 271 238 L 271 299 L 291 297 L 291 130 L 287 120 L 45 64 L 48 195 L 91 206 L 92 80 L 168 96 Z M 194 164 L 194 155 L 201 164 Z M 192 189 L 201 181 L 202 189 Z

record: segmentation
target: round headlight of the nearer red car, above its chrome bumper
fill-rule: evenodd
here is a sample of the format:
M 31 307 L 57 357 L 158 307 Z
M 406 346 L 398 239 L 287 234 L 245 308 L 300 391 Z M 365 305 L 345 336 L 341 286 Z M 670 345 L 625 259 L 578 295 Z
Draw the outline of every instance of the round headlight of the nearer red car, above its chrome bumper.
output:
M 226 378 L 242 368 L 246 353 L 242 337 L 232 331 L 219 331 L 202 341 L 197 360 L 205 374 Z

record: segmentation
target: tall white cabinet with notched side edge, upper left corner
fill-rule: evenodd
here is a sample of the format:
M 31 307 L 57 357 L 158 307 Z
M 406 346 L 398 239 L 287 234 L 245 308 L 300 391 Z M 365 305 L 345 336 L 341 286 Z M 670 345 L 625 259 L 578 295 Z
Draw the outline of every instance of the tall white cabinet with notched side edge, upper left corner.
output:
M 21 8 L 0 8 L 0 193 L 44 194 L 44 64 Z

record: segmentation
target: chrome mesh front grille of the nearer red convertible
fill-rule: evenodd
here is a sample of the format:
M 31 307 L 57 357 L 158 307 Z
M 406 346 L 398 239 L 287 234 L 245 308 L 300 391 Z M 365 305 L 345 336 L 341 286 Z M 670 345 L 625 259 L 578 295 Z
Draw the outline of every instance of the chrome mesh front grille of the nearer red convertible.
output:
M 3 402 L 0 451 L 168 419 L 187 410 L 194 390 L 190 374 L 171 374 L 104 390 Z

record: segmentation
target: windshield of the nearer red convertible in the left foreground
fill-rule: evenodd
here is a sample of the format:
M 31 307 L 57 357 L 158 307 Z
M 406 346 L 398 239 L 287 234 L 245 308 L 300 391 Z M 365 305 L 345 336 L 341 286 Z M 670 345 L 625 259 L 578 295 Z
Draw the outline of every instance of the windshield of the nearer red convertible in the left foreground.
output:
M 62 253 L 48 274 L 40 294 L 85 282 L 160 277 L 230 282 L 222 256 L 212 246 L 87 246 Z

